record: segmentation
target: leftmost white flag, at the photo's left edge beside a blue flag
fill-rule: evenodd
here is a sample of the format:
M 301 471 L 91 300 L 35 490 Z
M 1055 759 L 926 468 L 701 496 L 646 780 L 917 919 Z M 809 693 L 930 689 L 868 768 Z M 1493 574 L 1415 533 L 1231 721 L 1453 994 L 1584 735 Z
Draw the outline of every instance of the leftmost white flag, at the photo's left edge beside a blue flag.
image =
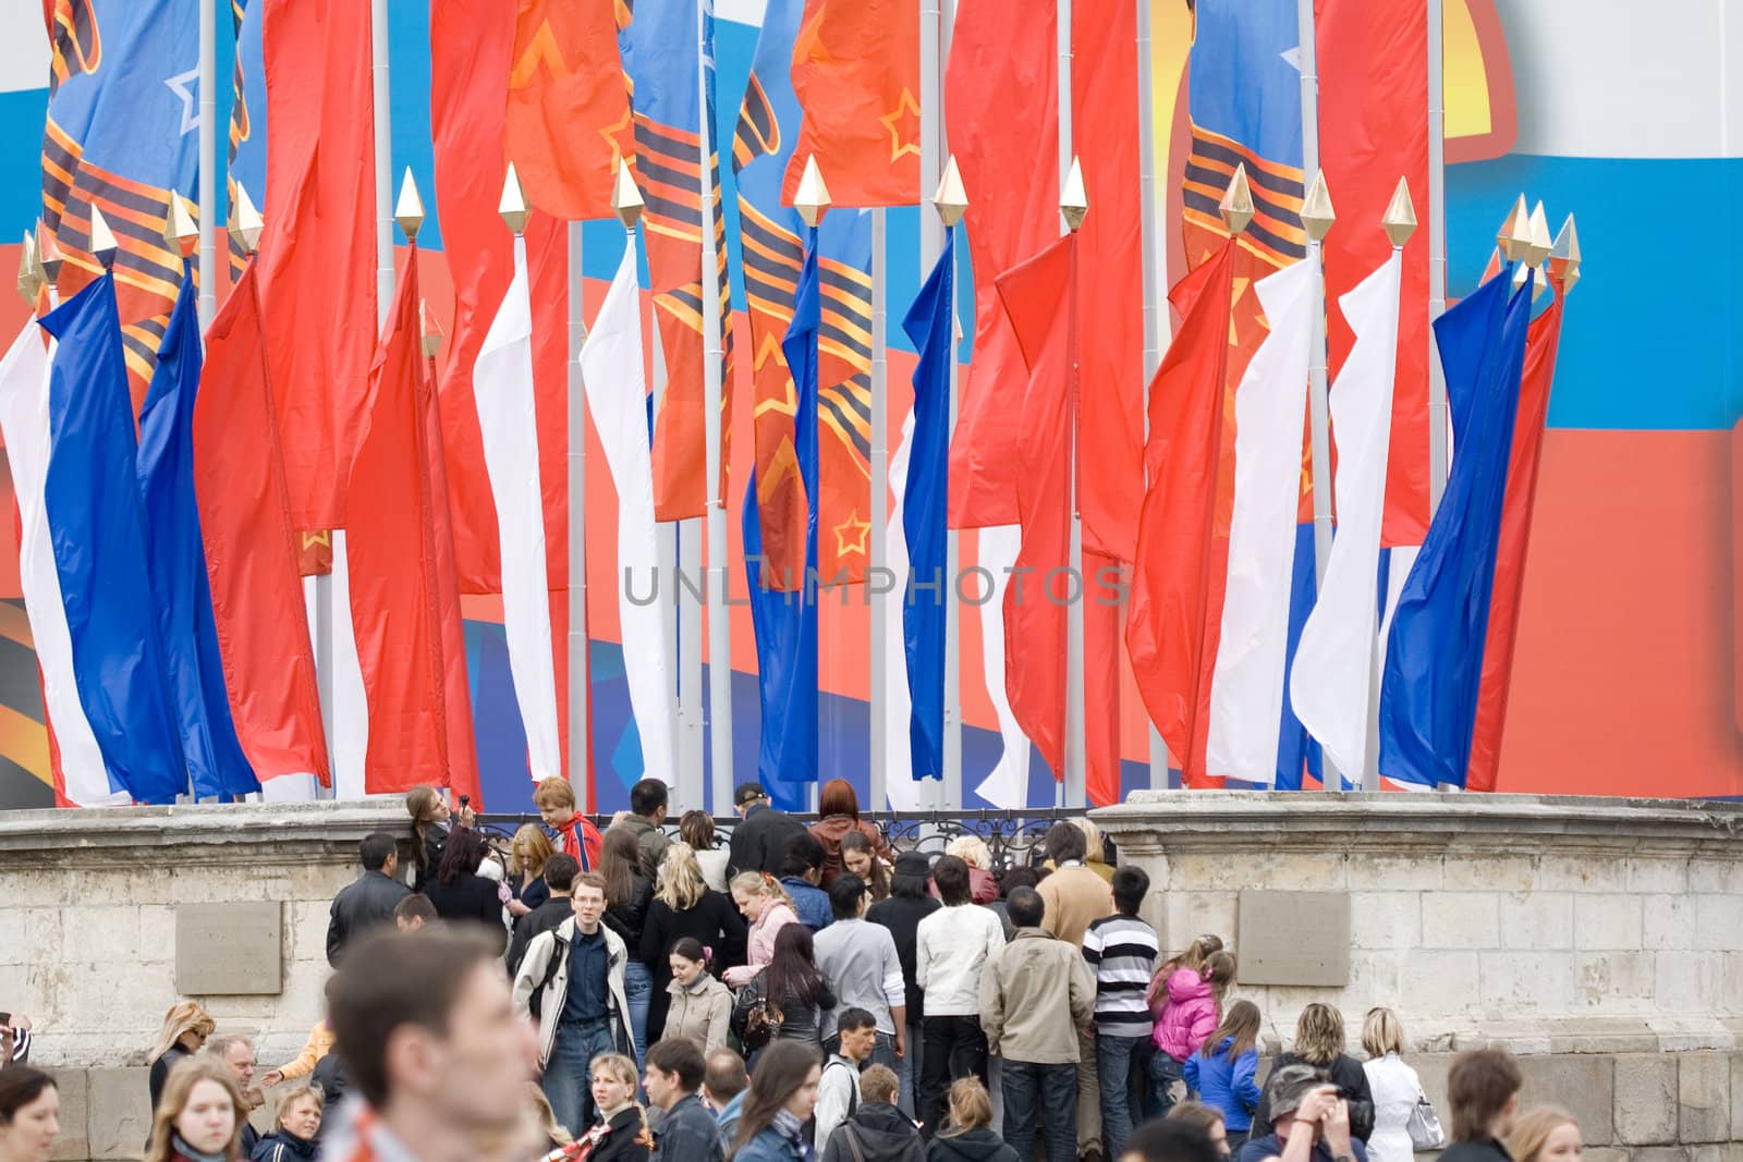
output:
M 42 667 L 42 700 L 61 753 L 63 793 L 78 807 L 127 803 L 110 791 L 108 767 L 73 685 L 73 638 L 61 601 L 61 575 L 49 544 L 44 483 L 49 476 L 49 362 L 44 333 L 31 319 L 0 361 L 0 430 L 5 432 L 17 497 L 17 573 L 24 615 Z

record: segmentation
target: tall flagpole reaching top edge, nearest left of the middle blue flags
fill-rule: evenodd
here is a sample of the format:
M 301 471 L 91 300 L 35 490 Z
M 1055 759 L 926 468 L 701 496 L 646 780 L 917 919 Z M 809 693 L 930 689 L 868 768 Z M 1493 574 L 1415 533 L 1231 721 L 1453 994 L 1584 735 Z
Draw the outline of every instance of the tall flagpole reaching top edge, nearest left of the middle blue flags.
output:
M 722 359 L 725 352 L 720 341 L 720 256 L 715 240 L 715 125 L 708 120 L 708 12 L 706 0 L 695 5 L 695 44 L 697 44 L 697 94 L 701 110 L 697 125 L 701 129 L 702 155 L 702 401 L 704 432 L 708 441 L 708 566 L 702 573 L 702 603 L 708 608 L 708 713 L 706 728 L 709 740 L 709 772 L 713 775 L 713 808 L 716 815 L 725 815 L 732 808 L 732 613 L 727 606 L 727 493 L 720 483 L 722 446 L 725 416 L 720 404 L 725 397 Z M 701 556 L 697 556 L 701 561 Z M 697 665 L 701 665 L 701 638 L 695 639 Z M 697 699 L 701 699 L 701 671 L 695 671 Z M 704 726 L 697 719 L 697 730 Z M 702 805 L 701 782 L 701 733 L 695 746 L 695 805 Z

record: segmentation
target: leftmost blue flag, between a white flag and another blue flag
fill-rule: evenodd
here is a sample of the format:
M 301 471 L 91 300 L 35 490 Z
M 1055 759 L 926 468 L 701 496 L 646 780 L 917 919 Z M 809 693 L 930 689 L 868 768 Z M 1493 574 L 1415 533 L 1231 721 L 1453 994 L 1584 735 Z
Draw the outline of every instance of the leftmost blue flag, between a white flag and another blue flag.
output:
M 145 551 L 138 441 L 115 280 L 96 279 L 42 321 L 49 369 L 44 509 L 73 643 L 73 685 L 112 786 L 139 803 L 188 789 Z

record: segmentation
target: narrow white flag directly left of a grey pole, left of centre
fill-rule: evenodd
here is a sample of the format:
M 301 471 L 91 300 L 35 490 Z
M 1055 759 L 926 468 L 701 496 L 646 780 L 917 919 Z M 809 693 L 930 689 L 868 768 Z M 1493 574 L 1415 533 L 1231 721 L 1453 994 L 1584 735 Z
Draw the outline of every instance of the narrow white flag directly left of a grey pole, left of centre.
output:
M 490 497 L 497 505 L 502 629 L 509 645 L 514 702 L 526 730 L 526 761 L 533 779 L 561 777 L 544 493 L 539 486 L 539 416 L 533 411 L 533 317 L 526 291 L 526 249 L 519 242 L 514 246 L 514 280 L 472 364 L 472 394 L 478 397 L 478 429 L 485 437 Z

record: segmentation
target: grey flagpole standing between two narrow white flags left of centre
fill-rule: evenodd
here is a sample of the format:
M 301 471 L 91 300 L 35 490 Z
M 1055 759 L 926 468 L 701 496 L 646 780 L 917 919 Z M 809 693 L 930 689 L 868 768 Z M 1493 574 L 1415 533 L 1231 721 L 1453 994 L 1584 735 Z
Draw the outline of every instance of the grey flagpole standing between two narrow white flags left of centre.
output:
M 582 223 L 568 223 L 568 782 L 587 808 L 593 742 L 587 721 L 587 385 L 580 376 L 580 345 L 587 341 L 582 308 Z

